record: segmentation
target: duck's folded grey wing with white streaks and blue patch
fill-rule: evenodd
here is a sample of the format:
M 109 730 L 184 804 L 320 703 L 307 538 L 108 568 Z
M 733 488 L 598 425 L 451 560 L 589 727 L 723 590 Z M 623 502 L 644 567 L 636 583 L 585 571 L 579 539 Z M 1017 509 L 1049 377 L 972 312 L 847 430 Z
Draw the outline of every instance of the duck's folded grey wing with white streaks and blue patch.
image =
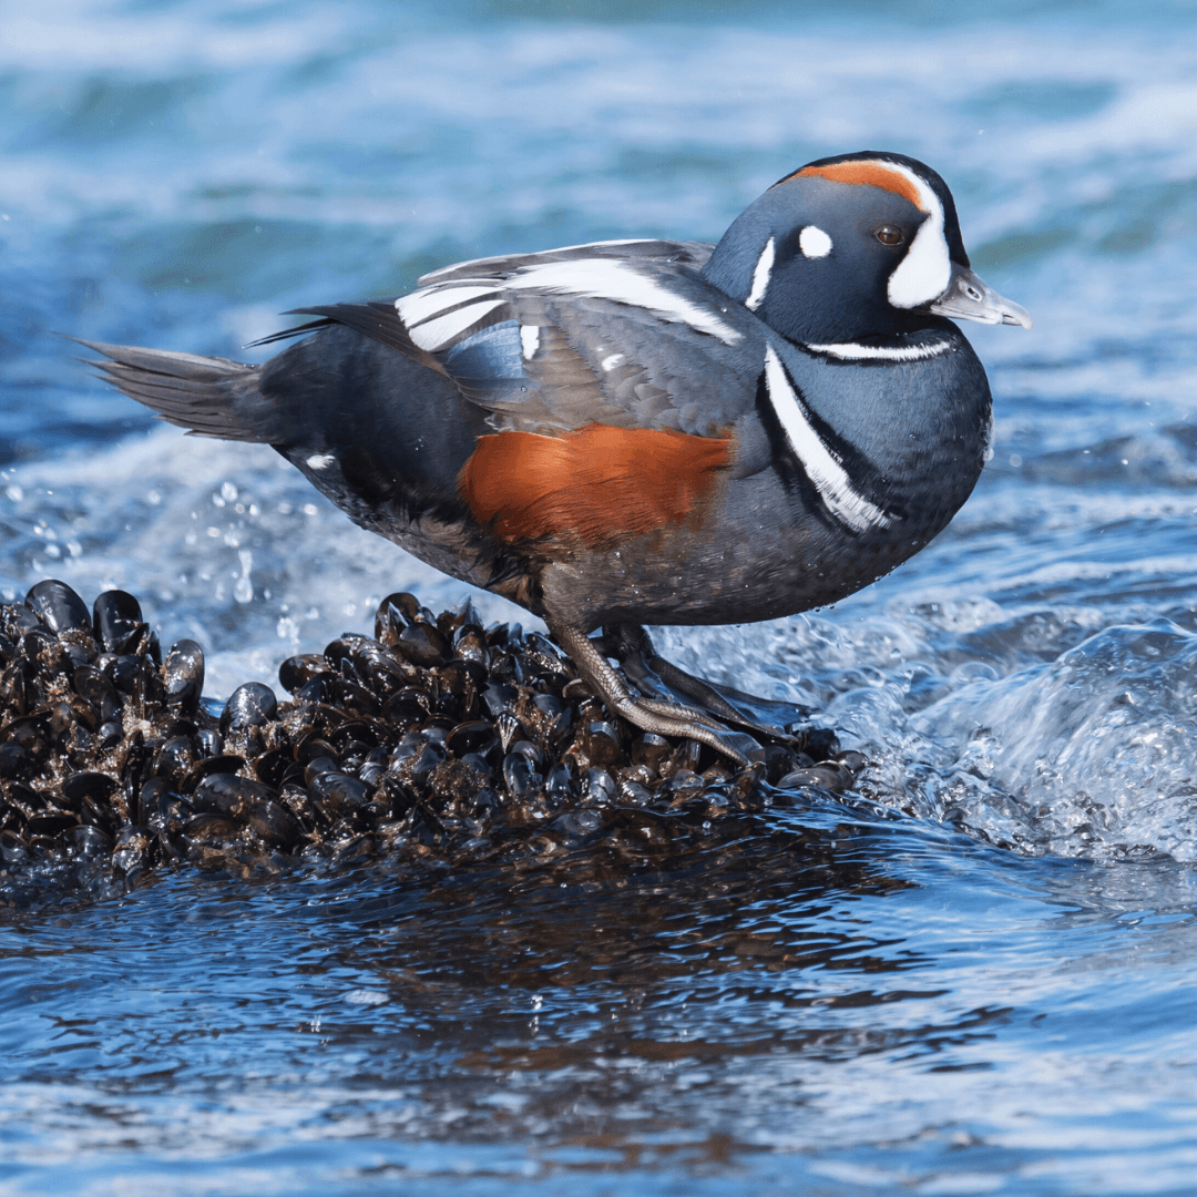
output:
M 305 309 L 445 376 L 496 431 L 591 424 L 727 436 L 755 403 L 757 317 L 698 274 L 709 247 L 606 242 L 484 259 L 395 300 Z M 299 330 L 297 330 L 299 332 Z

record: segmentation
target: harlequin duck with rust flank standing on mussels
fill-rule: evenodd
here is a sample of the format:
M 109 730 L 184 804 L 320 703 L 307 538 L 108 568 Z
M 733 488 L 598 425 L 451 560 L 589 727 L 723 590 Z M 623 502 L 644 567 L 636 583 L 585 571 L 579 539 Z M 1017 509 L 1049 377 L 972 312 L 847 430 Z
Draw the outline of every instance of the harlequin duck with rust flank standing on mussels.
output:
M 918 552 L 990 435 L 947 317 L 1031 328 L 970 269 L 943 180 L 871 151 L 786 175 L 713 248 L 488 257 L 302 312 L 263 365 L 91 347 L 163 419 L 273 445 L 356 523 L 540 615 L 631 723 L 737 761 L 770 729 L 640 625 L 791 615 Z

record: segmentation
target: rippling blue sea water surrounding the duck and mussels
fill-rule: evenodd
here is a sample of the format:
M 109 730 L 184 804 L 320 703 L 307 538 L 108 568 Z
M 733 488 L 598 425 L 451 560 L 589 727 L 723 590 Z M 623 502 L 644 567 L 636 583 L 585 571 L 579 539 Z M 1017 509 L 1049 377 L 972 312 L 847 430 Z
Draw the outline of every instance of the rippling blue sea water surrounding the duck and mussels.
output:
M 1035 317 L 968 329 L 995 456 L 935 545 L 661 633 L 825 712 L 856 795 L 654 869 L 48 886 L 0 911 L 0 1195 L 1197 1192 L 1195 34 L 1181 0 L 0 5 L 0 590 L 129 589 L 213 697 L 462 589 L 57 334 L 237 357 L 462 257 L 716 239 L 865 147 L 938 169 Z

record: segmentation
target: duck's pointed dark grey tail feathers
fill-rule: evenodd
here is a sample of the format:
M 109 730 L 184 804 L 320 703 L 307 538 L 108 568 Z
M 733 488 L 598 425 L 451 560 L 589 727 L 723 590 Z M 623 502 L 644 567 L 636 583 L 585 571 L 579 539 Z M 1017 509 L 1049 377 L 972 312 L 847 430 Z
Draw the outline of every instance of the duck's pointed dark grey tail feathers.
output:
M 133 345 L 79 344 L 109 359 L 91 365 L 117 390 L 170 424 L 223 440 L 285 439 L 278 412 L 259 385 L 261 366 Z

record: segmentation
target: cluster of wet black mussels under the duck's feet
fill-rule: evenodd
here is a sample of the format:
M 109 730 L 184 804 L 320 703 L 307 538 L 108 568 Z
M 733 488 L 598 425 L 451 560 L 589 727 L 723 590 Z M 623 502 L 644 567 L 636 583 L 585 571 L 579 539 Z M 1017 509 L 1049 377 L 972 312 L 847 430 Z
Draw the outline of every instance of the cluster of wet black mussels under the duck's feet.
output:
M 570 660 L 467 603 L 385 598 L 375 636 L 291 657 L 202 699 L 203 652 L 165 655 L 132 595 L 92 610 L 56 581 L 0 607 L 0 900 L 13 869 L 86 865 L 124 885 L 189 861 L 238 875 L 381 852 L 511 859 L 601 839 L 628 812 L 710 827 L 774 785 L 843 790 L 858 767 L 828 733 L 749 768 L 613 719 Z M 651 828 L 640 828 L 651 839 Z

